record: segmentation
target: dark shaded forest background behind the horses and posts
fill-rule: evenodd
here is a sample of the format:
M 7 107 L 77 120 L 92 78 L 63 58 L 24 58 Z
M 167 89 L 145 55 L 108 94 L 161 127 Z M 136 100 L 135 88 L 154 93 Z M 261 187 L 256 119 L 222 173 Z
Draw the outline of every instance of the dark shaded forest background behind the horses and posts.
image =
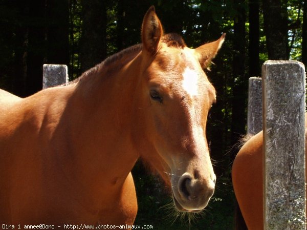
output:
M 0 0 L 0 88 L 18 96 L 42 88 L 42 65 L 69 66 L 70 79 L 123 48 L 140 43 L 143 15 L 155 5 L 165 32 L 189 47 L 226 41 L 208 76 L 217 91 L 207 136 L 217 186 L 194 220 L 167 205 L 167 190 L 141 163 L 133 170 L 136 224 L 154 229 L 233 229 L 231 164 L 246 133 L 247 83 L 268 59 L 307 65 L 307 1 L 295 0 Z M 176 220 L 174 220 L 176 219 Z M 182 220 L 180 220 L 182 219 Z

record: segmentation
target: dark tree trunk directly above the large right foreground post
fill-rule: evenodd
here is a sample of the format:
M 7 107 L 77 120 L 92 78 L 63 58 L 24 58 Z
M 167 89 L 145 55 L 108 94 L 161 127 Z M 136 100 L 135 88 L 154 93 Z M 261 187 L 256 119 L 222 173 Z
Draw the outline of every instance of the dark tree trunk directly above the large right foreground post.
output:
M 288 60 L 287 5 L 281 0 L 262 0 L 265 34 L 270 60 Z

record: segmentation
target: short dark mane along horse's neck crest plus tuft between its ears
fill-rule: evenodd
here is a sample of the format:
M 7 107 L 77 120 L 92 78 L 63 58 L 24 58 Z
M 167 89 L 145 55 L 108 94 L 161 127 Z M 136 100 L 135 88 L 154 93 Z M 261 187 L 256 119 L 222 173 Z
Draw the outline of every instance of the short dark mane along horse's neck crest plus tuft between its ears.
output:
M 183 38 L 176 33 L 169 33 L 169 34 L 164 34 L 161 39 L 162 43 L 165 43 L 168 47 L 174 47 L 174 48 L 181 48 L 183 49 L 186 47 L 186 44 L 183 40 Z M 116 54 L 113 54 L 106 59 L 104 59 L 102 62 L 97 64 L 95 67 L 85 71 L 84 73 L 81 74 L 78 78 L 76 78 L 73 81 L 70 81 L 68 83 L 64 83 L 62 86 L 67 86 L 67 85 L 72 85 L 74 83 L 78 83 L 80 80 L 86 78 L 86 76 L 92 75 L 93 73 L 97 73 L 99 70 L 103 68 L 107 68 L 111 66 L 115 61 L 121 60 L 123 57 L 129 54 L 137 54 L 142 51 L 142 44 L 137 44 L 134 46 L 130 46 Z M 134 57 L 134 56 L 132 56 Z M 126 61 L 131 60 L 131 58 L 128 58 Z

